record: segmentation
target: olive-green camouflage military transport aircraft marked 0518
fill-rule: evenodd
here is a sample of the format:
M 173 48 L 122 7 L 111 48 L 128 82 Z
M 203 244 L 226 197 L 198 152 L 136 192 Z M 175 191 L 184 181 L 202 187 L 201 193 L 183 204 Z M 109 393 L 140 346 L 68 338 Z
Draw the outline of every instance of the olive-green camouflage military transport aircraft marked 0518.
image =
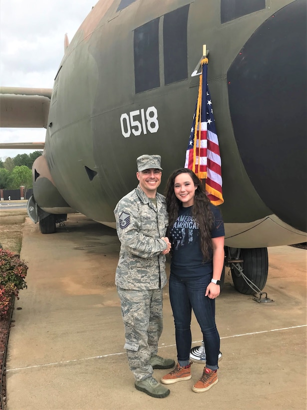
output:
M 46 128 L 28 202 L 41 232 L 74 210 L 115 226 L 138 155 L 162 156 L 164 183 L 184 165 L 206 44 L 226 264 L 239 291 L 253 292 L 232 260 L 262 289 L 267 247 L 307 236 L 306 21 L 306 0 L 98 1 L 52 90 L 0 91 L 1 126 Z

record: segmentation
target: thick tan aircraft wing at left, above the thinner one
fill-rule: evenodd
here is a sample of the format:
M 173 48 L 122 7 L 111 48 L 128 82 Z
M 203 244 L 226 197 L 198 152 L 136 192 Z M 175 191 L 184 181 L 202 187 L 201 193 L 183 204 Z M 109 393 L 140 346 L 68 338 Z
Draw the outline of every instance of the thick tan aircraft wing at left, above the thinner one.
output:
M 0 87 L 0 126 L 46 128 L 51 88 Z

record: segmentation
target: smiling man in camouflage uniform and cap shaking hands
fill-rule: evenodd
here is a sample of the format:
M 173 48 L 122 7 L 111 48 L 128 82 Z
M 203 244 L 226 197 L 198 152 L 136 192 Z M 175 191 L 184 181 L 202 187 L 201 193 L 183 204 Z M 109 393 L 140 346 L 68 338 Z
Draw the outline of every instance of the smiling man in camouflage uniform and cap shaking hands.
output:
M 173 359 L 157 355 L 162 333 L 162 288 L 166 284 L 165 237 L 168 218 L 161 183 L 160 155 L 137 158 L 139 185 L 116 205 L 116 229 L 121 242 L 115 283 L 125 324 L 124 348 L 135 377 L 135 387 L 152 397 L 170 390 L 152 377 L 153 368 L 171 368 Z

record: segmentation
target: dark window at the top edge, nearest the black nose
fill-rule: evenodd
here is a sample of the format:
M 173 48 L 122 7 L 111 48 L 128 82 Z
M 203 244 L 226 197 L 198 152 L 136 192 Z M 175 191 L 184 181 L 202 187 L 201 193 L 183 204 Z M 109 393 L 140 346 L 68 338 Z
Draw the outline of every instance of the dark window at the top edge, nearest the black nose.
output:
M 266 0 L 221 0 L 221 23 L 266 8 Z

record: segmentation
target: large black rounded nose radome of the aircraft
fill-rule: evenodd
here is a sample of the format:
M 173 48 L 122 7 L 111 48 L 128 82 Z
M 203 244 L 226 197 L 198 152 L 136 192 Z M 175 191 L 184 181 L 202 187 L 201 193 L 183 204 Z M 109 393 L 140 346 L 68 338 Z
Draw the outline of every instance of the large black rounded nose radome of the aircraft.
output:
M 266 205 L 307 231 L 306 0 L 296 0 L 250 37 L 228 74 L 235 138 Z

